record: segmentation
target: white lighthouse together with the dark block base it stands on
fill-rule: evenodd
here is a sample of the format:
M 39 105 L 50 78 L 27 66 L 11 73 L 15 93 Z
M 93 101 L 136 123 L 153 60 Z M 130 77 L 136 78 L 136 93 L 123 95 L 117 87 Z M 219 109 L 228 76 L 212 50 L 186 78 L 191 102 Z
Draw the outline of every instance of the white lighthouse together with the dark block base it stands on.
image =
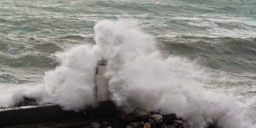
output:
M 108 79 L 105 77 L 107 61 L 98 62 L 95 73 L 95 98 L 98 102 L 97 115 L 99 117 L 115 116 L 115 104 L 110 100 Z

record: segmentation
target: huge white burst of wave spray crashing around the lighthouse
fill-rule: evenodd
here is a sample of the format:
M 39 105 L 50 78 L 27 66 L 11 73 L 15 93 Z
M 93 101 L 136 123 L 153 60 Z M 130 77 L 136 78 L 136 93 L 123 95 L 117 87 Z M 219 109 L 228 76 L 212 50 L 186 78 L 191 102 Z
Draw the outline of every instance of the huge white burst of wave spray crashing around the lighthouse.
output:
M 256 99 L 241 104 L 232 96 L 207 92 L 195 80 L 203 73 L 194 62 L 164 58 L 150 36 L 124 21 L 101 21 L 94 29 L 96 45 L 56 53 L 61 66 L 46 72 L 44 84 L 36 88 L 16 88 L 9 106 L 23 96 L 60 104 L 65 110 L 95 105 L 95 68 L 104 57 L 112 100 L 126 112 L 144 108 L 177 113 L 195 128 L 213 123 L 223 128 L 256 126 Z

